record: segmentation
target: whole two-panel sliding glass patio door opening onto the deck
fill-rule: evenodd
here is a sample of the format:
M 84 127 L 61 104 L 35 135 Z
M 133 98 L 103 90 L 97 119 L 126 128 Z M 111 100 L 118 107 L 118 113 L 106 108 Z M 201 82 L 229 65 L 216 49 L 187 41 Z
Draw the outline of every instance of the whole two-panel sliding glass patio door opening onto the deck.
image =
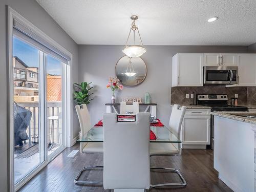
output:
M 65 148 L 67 63 L 13 36 L 14 184 Z

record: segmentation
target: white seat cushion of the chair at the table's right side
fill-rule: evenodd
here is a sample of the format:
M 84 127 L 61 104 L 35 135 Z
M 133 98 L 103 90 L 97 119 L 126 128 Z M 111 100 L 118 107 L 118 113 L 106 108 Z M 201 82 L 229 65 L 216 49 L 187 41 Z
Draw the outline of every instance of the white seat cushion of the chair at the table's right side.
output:
M 150 155 L 176 155 L 179 151 L 173 143 L 150 143 Z

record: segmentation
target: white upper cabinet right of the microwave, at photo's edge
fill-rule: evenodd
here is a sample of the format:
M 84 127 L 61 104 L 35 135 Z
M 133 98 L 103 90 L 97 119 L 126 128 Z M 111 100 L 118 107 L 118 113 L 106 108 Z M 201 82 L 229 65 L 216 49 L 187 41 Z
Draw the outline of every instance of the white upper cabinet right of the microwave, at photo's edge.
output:
M 238 86 L 256 86 L 256 54 L 237 54 Z

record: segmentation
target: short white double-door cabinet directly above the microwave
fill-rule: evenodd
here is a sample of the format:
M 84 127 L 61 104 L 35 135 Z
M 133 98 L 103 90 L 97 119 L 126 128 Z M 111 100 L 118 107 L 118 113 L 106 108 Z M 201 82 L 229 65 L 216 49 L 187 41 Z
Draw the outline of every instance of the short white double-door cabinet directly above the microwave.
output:
M 204 66 L 236 66 L 237 54 L 204 53 Z

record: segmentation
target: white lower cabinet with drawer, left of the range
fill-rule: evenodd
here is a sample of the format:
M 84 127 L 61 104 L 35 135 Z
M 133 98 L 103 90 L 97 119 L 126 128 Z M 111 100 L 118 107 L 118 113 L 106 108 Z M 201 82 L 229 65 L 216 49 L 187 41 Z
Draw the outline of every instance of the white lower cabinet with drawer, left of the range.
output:
M 210 144 L 210 110 L 186 110 L 181 141 L 182 148 L 206 148 Z

